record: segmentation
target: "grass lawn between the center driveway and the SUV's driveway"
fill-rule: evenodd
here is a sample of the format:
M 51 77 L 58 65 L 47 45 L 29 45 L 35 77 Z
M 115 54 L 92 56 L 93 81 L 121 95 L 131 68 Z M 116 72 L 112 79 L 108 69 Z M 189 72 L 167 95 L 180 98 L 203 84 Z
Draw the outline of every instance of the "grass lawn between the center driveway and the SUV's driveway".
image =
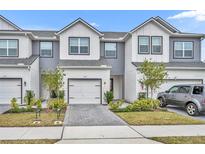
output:
M 150 112 L 116 112 L 130 125 L 186 125 L 205 124 L 205 121 L 195 120 L 168 111 Z

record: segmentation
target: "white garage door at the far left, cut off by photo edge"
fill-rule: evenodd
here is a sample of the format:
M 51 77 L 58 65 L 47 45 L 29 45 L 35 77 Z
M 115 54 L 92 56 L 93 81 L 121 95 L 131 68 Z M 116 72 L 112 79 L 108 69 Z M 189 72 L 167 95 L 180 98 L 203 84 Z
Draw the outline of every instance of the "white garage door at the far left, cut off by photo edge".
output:
M 0 79 L 0 104 L 10 104 L 14 97 L 21 103 L 21 79 Z

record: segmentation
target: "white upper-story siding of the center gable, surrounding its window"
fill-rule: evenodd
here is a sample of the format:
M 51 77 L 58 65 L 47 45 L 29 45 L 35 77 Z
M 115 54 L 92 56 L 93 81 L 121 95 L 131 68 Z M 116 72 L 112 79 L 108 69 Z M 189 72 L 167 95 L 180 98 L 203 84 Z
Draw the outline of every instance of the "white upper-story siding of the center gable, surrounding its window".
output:
M 89 37 L 90 55 L 69 55 L 68 38 L 69 37 Z M 72 60 L 98 60 L 100 59 L 100 39 L 99 35 L 86 27 L 82 23 L 77 23 L 62 34 L 60 34 L 60 59 Z

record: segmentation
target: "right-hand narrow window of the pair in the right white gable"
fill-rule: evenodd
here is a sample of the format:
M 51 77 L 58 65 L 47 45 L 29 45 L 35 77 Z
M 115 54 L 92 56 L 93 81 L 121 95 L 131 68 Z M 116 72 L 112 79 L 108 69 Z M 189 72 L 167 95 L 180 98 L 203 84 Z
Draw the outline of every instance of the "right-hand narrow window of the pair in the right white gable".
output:
M 162 37 L 152 36 L 152 54 L 162 54 Z

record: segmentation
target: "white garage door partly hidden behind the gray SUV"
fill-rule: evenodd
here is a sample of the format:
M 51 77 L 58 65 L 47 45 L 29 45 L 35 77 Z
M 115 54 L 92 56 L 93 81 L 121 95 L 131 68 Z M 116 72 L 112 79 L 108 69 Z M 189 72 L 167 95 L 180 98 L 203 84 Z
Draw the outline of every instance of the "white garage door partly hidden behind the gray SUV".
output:
M 172 86 L 174 85 L 179 85 L 179 84 L 202 84 L 202 80 L 201 79 L 169 79 L 166 80 L 166 82 L 164 82 L 159 89 L 157 89 L 155 91 L 155 96 L 157 96 L 157 94 L 159 92 L 164 92 L 166 90 L 169 90 Z

